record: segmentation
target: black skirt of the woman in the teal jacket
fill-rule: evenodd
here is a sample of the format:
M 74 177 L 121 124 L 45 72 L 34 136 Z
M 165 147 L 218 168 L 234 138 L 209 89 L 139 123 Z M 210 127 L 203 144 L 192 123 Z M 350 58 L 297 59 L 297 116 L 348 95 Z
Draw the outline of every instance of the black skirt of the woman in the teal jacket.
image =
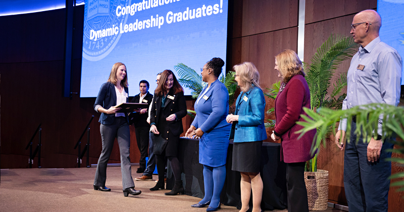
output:
M 260 172 L 262 141 L 234 142 L 231 170 Z

